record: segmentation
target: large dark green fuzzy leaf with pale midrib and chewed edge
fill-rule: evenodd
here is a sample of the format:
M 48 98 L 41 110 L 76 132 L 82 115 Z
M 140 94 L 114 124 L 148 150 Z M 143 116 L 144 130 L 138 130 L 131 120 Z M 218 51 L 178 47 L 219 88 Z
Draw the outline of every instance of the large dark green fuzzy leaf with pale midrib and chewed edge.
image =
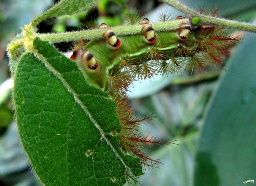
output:
M 14 79 L 19 134 L 45 185 L 123 185 L 141 175 L 139 158 L 121 152 L 115 103 L 88 84 L 75 62 L 36 38 Z M 114 182 L 113 182 L 114 180 Z

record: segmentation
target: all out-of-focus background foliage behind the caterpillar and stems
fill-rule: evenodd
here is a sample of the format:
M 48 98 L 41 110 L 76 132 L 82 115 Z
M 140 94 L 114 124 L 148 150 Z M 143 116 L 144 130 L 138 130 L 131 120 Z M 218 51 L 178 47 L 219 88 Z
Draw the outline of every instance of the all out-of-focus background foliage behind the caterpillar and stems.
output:
M 255 0 L 180 0 L 187 6 L 218 16 L 255 23 Z M 23 151 L 11 102 L 10 71 L 6 45 L 20 27 L 58 1 L 2 0 L 0 2 L 0 185 L 41 185 Z M 63 32 L 94 28 L 105 22 L 128 24 L 135 13 L 157 22 L 161 12 L 175 18 L 183 13 L 156 0 L 99 0 L 98 8 L 73 16 L 48 19 L 39 32 Z M 96 23 L 96 24 L 95 24 Z M 147 146 L 145 152 L 160 159 L 159 169 L 145 168 L 138 178 L 153 186 L 229 186 L 256 181 L 256 34 L 233 31 L 243 37 L 230 45 L 225 68 L 209 67 L 204 72 L 180 72 L 136 81 L 129 98 L 135 115 L 155 118 L 141 125 L 141 133 L 178 145 Z M 71 43 L 56 47 L 67 52 Z

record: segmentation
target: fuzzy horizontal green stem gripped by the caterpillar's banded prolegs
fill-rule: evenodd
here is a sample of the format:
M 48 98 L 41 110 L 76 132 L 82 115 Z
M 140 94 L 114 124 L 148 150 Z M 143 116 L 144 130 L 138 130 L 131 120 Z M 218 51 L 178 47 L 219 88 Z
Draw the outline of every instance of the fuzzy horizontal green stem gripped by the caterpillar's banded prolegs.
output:
M 160 31 L 170 31 L 177 30 L 180 28 L 181 23 L 188 23 L 188 19 L 182 20 L 174 20 L 174 21 L 166 21 L 154 23 L 153 27 L 156 32 Z M 131 25 L 131 26 L 119 26 L 110 28 L 117 36 L 125 36 L 125 35 L 134 35 L 141 34 L 142 25 Z M 106 30 L 102 29 L 94 29 L 94 30 L 82 30 L 75 32 L 65 32 L 65 33 L 50 33 L 50 34 L 37 34 L 37 36 L 46 41 L 50 41 L 52 43 L 59 42 L 68 42 L 75 41 L 79 39 L 92 40 L 92 39 L 100 39 L 103 36 L 103 33 Z

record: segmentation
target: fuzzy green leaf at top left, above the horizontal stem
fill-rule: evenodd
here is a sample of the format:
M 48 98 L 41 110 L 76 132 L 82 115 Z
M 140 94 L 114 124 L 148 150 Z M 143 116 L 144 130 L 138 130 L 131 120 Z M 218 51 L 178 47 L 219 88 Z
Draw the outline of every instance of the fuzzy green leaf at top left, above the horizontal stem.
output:
M 97 4 L 97 0 L 61 0 L 54 7 L 43 13 L 32 21 L 32 26 L 37 26 L 41 21 L 47 18 L 53 18 L 62 15 L 72 15 L 81 11 L 87 11 Z

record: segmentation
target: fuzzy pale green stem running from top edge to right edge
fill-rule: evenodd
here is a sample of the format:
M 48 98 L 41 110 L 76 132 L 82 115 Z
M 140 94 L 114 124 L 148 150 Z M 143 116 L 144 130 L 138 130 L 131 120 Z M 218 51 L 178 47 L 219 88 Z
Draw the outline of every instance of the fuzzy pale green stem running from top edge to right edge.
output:
M 160 0 L 190 16 L 197 16 L 200 18 L 200 23 L 210 23 L 217 27 L 223 27 L 227 29 L 236 29 L 241 31 L 248 31 L 256 33 L 256 25 L 245 22 L 232 21 L 224 18 L 217 18 L 213 16 L 201 15 L 199 12 L 194 11 L 191 8 L 186 7 L 176 0 Z

